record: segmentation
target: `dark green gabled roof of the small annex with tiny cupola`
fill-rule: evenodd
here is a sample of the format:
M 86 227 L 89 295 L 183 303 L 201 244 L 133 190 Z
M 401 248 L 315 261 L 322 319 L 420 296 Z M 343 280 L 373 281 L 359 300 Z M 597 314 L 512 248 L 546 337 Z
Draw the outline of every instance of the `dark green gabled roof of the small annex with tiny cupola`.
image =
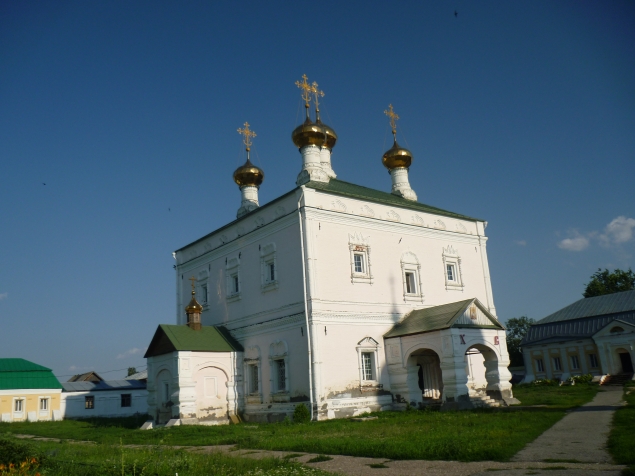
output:
M 242 352 L 243 347 L 223 326 L 203 326 L 195 331 L 188 326 L 161 324 L 154 333 L 144 358 L 175 351 Z

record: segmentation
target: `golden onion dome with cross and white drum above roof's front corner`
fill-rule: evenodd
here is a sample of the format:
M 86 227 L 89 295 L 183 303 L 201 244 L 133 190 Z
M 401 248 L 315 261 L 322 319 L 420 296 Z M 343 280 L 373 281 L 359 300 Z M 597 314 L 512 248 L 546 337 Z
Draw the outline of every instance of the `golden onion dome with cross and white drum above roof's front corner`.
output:
M 303 185 L 308 182 L 328 182 L 330 180 L 329 174 L 322 168 L 322 154 L 325 151 L 326 157 L 326 152 L 328 152 L 330 169 L 331 154 L 328 144 L 331 144 L 330 147 L 332 148 L 337 140 L 335 132 L 330 127 L 325 127 L 322 121 L 319 121 L 319 115 L 316 122 L 311 121 L 311 96 L 315 96 L 317 101 L 318 96 L 324 96 L 324 93 L 317 89 L 317 83 L 309 84 L 308 79 L 306 74 L 304 74 L 302 75 L 302 81 L 295 82 L 296 86 L 301 90 L 306 110 L 306 119 L 291 133 L 291 139 L 302 155 L 302 170 L 298 174 L 297 185 Z

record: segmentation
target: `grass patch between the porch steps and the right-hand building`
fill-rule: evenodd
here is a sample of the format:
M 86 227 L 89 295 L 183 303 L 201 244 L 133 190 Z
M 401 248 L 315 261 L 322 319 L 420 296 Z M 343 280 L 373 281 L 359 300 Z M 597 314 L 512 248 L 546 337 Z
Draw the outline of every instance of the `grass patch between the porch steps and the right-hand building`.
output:
M 597 384 L 577 384 L 559 386 L 534 386 L 532 384 L 514 386 L 513 392 L 521 406 L 547 405 L 551 408 L 572 408 L 593 400 L 600 390 Z

